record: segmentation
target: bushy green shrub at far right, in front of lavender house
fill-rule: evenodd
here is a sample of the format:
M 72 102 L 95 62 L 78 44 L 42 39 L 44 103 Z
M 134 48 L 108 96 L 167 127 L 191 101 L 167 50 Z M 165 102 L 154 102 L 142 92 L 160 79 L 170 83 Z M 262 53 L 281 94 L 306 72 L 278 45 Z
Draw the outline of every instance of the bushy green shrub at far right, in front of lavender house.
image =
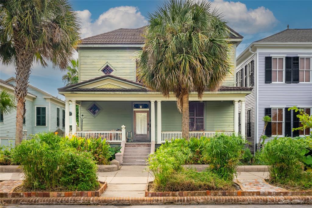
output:
M 270 180 L 278 183 L 301 176 L 305 145 L 290 137 L 274 138 L 261 150 L 261 161 L 269 169 Z

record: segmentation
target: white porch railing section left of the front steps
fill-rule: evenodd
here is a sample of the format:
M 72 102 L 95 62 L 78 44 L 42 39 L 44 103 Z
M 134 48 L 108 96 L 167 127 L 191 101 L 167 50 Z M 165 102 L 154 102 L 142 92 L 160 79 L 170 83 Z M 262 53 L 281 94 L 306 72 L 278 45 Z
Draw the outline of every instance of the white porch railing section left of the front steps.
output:
M 77 131 L 77 137 L 102 138 L 107 142 L 121 142 L 121 131 Z

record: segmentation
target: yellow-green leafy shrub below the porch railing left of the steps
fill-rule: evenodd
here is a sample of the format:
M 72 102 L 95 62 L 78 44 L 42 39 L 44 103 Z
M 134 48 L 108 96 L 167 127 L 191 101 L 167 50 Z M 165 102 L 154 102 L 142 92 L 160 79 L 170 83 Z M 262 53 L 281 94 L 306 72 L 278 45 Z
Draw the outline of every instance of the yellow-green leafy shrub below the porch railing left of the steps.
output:
M 69 140 L 69 145 L 78 151 L 90 152 L 98 165 L 108 165 L 110 163 L 112 152 L 110 151 L 110 145 L 106 143 L 105 139 L 102 141 L 101 138 L 86 139 L 82 137 L 73 136 Z

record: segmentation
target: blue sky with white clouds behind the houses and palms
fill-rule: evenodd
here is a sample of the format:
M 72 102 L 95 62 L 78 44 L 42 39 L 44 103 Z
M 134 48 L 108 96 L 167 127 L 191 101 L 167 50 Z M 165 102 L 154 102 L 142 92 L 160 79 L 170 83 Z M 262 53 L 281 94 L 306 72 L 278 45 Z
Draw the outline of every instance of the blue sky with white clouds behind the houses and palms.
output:
M 148 13 L 153 13 L 164 1 L 103 1 L 70 0 L 80 18 L 81 37 L 90 37 L 118 28 L 137 28 L 148 24 Z M 238 56 L 253 41 L 270 36 L 287 28 L 312 28 L 312 1 L 225 1 L 211 2 L 227 20 L 228 25 L 244 36 L 237 47 Z M 73 58 L 78 58 L 75 53 Z M 52 64 L 43 68 L 33 65 L 30 84 L 59 95 L 65 72 L 53 69 Z M 15 77 L 15 67 L 0 64 L 0 78 Z

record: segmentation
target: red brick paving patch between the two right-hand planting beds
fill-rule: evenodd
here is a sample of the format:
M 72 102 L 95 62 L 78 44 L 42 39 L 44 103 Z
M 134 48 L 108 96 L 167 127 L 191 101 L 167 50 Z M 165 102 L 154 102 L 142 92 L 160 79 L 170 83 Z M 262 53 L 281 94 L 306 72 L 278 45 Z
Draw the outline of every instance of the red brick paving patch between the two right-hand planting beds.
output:
M 237 179 L 234 182 L 241 186 L 242 191 L 287 191 L 286 189 L 268 184 L 264 179 Z

